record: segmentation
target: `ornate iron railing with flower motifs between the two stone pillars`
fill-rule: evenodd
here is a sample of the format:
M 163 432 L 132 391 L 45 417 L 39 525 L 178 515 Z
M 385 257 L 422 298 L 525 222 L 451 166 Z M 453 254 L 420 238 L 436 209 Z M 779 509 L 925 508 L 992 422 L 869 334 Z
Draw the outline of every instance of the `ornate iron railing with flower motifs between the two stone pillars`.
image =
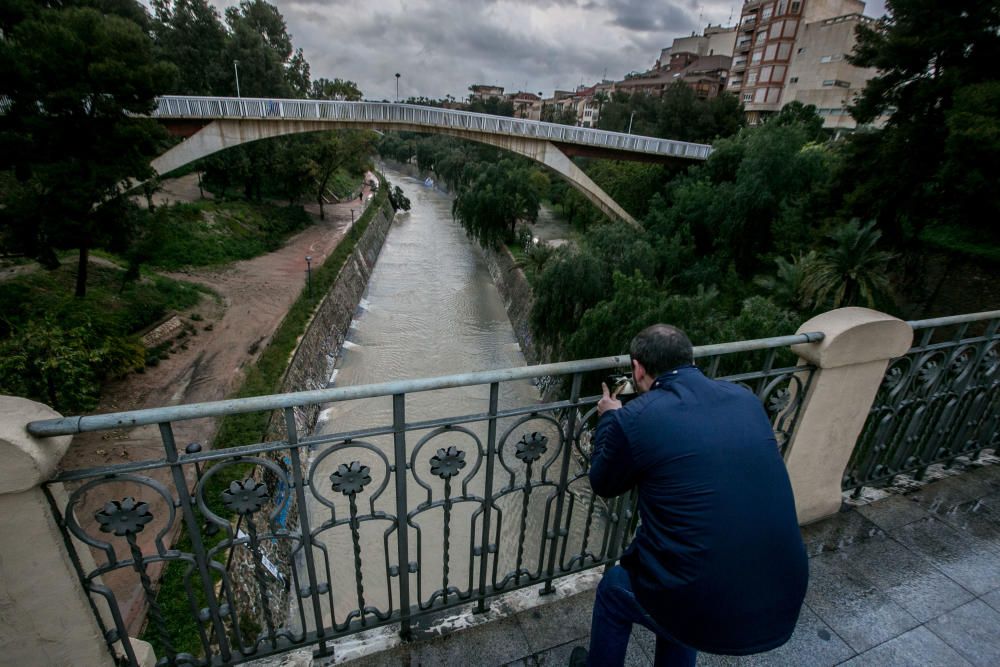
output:
M 726 379 L 760 398 L 784 447 L 813 369 L 779 362 L 794 359 L 789 345 L 821 339 L 706 346 L 696 357 L 709 375 L 754 369 Z M 46 487 L 109 646 L 121 641 L 131 664 L 123 581 L 148 605 L 146 636 L 162 664 L 232 665 L 301 646 L 329 655 L 332 640 L 362 629 L 398 623 L 405 635 L 440 610 L 484 611 L 498 594 L 550 592 L 558 577 L 615 561 L 635 527 L 634 499 L 590 489 L 599 397 L 582 388 L 588 373 L 627 365 L 607 357 L 46 420 L 29 431 L 159 429 L 162 459 L 68 472 Z M 506 385 L 542 377 L 567 380 L 568 398 L 504 404 Z M 408 417 L 417 394 L 456 388 L 484 410 Z M 367 401 L 373 414 L 391 402 L 391 417 L 298 433 L 297 408 L 346 401 Z M 181 452 L 174 440 L 178 420 L 275 410 L 284 440 L 206 452 Z M 169 563 L 184 571 L 195 648 L 180 646 L 155 595 L 151 570 Z

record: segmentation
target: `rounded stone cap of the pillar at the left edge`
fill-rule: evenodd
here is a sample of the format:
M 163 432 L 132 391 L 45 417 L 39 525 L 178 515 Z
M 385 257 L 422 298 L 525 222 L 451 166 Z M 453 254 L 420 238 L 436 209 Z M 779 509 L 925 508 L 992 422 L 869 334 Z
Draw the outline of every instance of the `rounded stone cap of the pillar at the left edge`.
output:
M 60 417 L 42 403 L 0 395 L 0 494 L 27 491 L 52 476 L 73 437 L 36 438 L 27 426 Z

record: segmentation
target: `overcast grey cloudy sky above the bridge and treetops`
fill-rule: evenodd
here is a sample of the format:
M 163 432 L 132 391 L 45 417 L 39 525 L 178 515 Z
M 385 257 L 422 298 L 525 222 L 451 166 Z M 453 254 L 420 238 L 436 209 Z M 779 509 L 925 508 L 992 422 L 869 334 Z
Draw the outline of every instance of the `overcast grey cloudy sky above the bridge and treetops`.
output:
M 212 0 L 221 10 L 233 0 Z M 674 37 L 739 18 L 740 0 L 271 0 L 314 79 L 368 99 L 465 98 L 473 83 L 543 92 L 653 65 Z M 880 16 L 884 0 L 868 3 Z

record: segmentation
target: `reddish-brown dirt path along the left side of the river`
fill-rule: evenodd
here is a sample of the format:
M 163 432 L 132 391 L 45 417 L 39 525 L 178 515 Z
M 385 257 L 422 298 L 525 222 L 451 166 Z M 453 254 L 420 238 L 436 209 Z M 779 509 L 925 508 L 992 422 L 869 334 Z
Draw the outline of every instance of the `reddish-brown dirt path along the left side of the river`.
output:
M 167 197 L 169 201 L 197 199 L 196 177 L 192 175 L 178 180 L 181 182 L 165 185 L 166 194 L 161 201 L 167 201 Z M 367 196 L 366 186 L 366 200 Z M 247 368 L 259 357 L 305 287 L 305 257 L 312 257 L 313 268 L 323 263 L 350 228 L 352 208 L 354 217 L 358 217 L 361 213 L 358 200 L 328 205 L 325 207 L 326 220 L 321 221 L 318 206 L 307 205 L 306 210 L 313 217 L 314 224 L 291 238 L 280 250 L 223 268 L 166 273 L 172 278 L 205 285 L 218 294 L 218 298 L 206 296 L 195 309 L 181 314 L 182 320 L 194 325 L 197 334 L 187 338 L 183 346 L 186 349 L 171 354 L 144 373 L 130 375 L 108 386 L 95 412 L 226 398 L 239 387 Z M 208 449 L 216 428 L 217 424 L 212 419 L 175 422 L 173 432 L 178 449 L 183 452 L 192 442 L 201 443 Z M 155 426 L 147 426 L 78 435 L 63 458 L 61 468 L 77 470 L 163 458 L 159 431 Z M 168 470 L 154 471 L 149 476 L 167 488 L 173 487 Z M 81 525 L 96 529 L 96 523 L 92 521 L 94 512 L 109 500 L 120 500 L 130 495 L 145 500 L 157 498 L 149 487 L 135 483 L 102 484 L 80 498 L 76 514 Z M 150 511 L 154 521 L 139 535 L 144 538 L 140 539 L 140 544 L 147 555 L 156 552 L 153 539 L 164 527 L 169 513 L 165 501 L 152 503 Z M 179 521 L 178 512 L 174 528 Z M 98 539 L 106 537 L 96 530 L 92 534 Z M 119 558 L 125 557 L 124 553 L 119 554 Z M 104 575 L 103 579 L 116 591 L 122 612 L 128 619 L 130 633 L 135 636 L 140 630 L 144 610 L 137 577 L 128 569 L 119 569 Z

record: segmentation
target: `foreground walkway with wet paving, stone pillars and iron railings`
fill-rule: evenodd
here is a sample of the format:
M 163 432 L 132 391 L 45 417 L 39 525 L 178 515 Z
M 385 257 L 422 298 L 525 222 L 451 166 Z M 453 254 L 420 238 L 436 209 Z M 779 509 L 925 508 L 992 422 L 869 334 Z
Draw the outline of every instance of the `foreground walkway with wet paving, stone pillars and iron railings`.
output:
M 909 323 L 833 311 L 800 332 L 695 351 L 707 375 L 761 401 L 800 520 L 832 515 L 803 528 L 813 588 L 787 650 L 831 665 L 854 655 L 882 664 L 900 646 L 967 655 L 966 628 L 1000 620 L 1000 518 L 992 509 L 1000 468 L 987 466 L 1000 445 L 1000 311 Z M 586 374 L 628 361 L 73 418 L 4 397 L 8 460 L 35 462 L 0 480 L 5 534 L 16 522 L 21 538 L 0 546 L 3 576 L 21 573 L 17 590 L 31 592 L 17 600 L 5 637 L 18 636 L 22 618 L 36 628 L 6 643 L 30 650 L 36 635 L 51 633 L 38 644 L 50 664 L 110 664 L 110 648 L 138 665 L 145 645 L 129 639 L 123 603 L 139 600 L 149 608 L 146 636 L 168 664 L 277 664 L 291 651 L 336 651 L 339 660 L 376 636 L 399 644 L 400 636 L 437 632 L 445 617 L 461 625 L 475 612 L 489 618 L 490 609 L 513 613 L 462 642 L 393 650 L 428 664 L 562 655 L 586 636 L 588 586 L 635 529 L 634 496 L 603 500 L 587 481 L 598 396 L 587 393 Z M 532 378 L 563 378 L 565 389 L 527 405 L 503 401 L 508 383 Z M 411 414 L 421 395 L 446 390 L 482 396 L 483 410 Z M 331 403 L 370 411 L 370 425 L 331 434 L 300 425 L 304 408 Z M 221 451 L 182 452 L 175 442 L 175 423 L 247 412 L 270 414 L 274 437 Z M 159 431 L 159 455 L 51 474 L 65 436 L 144 426 Z M 890 498 L 837 513 L 845 501 L 862 504 L 880 489 L 912 488 L 957 468 L 968 472 L 918 491 L 915 503 Z M 26 494 L 31 502 L 15 502 Z M 171 546 L 175 528 L 188 539 Z M 22 567 L 11 569 L 18 554 Z M 178 648 L 177 627 L 156 600 L 151 573 L 168 563 L 187 573 L 176 595 L 190 609 L 193 653 L 203 658 Z M 115 574 L 130 575 L 131 585 Z M 563 597 L 557 604 L 569 606 L 516 613 Z M 39 600 L 58 600 L 58 608 Z M 462 644 L 471 658 L 441 657 Z M 62 650 L 73 660 L 53 657 Z

